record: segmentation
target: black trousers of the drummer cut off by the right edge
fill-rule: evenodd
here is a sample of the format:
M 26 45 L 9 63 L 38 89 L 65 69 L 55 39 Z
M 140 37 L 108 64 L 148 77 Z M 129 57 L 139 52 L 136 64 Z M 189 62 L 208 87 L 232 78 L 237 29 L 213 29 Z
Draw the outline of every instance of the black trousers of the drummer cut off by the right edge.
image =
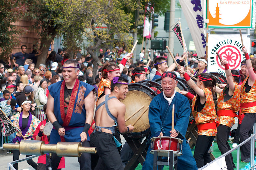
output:
M 254 123 L 256 122 L 256 113 L 245 113 L 243 121 L 240 127 L 240 142 L 242 143 L 249 137 L 249 132 L 252 129 Z M 251 141 L 246 142 L 241 146 L 241 160 L 245 160 L 250 157 Z M 256 149 L 254 149 L 254 154 L 256 154 Z

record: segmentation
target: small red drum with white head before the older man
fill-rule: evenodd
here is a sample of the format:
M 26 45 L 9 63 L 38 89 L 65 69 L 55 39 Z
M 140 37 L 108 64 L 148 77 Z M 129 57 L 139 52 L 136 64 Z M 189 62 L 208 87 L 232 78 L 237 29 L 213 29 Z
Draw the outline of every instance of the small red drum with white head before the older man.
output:
M 154 154 L 154 151 L 158 152 L 158 156 L 169 156 L 169 151 L 174 152 L 174 156 L 182 155 L 182 143 L 183 140 L 178 138 L 172 138 L 168 136 L 163 137 L 153 137 L 151 140 L 151 154 Z

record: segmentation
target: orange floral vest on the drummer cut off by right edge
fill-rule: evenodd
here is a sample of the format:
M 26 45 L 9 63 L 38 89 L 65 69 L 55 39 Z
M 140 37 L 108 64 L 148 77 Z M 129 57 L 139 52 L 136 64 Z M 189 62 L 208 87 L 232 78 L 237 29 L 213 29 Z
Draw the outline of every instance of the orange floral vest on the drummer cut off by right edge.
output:
M 244 86 L 245 86 L 246 81 L 248 81 L 248 78 L 249 78 L 249 76 L 245 79 L 245 81 L 241 85 L 241 93 L 240 93 L 240 95 L 241 95 L 240 104 L 241 105 L 246 104 L 246 103 L 256 102 L 256 81 L 252 85 L 252 88 L 249 91 L 249 93 L 245 92 Z M 241 114 L 244 114 L 244 113 L 256 113 L 256 106 L 241 108 Z

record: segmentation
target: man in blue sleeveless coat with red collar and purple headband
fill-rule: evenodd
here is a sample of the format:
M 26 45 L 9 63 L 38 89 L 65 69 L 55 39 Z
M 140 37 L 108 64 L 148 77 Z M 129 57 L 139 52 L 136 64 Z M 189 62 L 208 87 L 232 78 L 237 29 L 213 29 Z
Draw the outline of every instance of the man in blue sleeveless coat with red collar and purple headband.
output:
M 94 87 L 79 81 L 76 78 L 78 74 L 78 62 L 69 59 L 63 65 L 64 81 L 49 86 L 47 116 L 54 126 L 50 144 L 83 141 L 83 147 L 90 146 L 88 130 L 93 118 Z M 53 169 L 58 168 L 60 159 L 61 157 L 53 153 Z M 80 169 L 91 169 L 89 153 L 82 153 L 78 162 Z

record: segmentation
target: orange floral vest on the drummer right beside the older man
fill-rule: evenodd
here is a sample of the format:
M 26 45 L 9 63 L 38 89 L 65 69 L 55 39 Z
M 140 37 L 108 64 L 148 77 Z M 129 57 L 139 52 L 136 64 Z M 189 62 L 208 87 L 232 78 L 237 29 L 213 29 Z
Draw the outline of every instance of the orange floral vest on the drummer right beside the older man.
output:
M 193 117 L 195 118 L 196 125 L 203 124 L 203 123 L 213 123 L 217 118 L 215 105 L 214 105 L 214 101 L 213 101 L 213 97 L 210 89 L 204 88 L 202 90 L 206 96 L 206 102 L 203 109 L 200 112 L 197 112 L 196 110 L 194 110 L 196 98 L 199 96 L 196 96 L 192 102 L 192 113 L 193 113 Z M 216 136 L 217 128 L 207 129 L 207 130 L 198 130 L 197 132 L 198 132 L 198 135 Z

